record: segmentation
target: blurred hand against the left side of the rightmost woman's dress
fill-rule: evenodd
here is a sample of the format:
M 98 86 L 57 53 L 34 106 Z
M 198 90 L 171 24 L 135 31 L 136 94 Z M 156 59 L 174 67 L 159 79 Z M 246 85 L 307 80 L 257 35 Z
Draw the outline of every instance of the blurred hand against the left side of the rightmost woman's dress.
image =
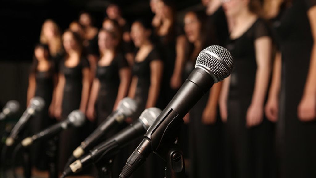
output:
M 269 97 L 265 105 L 265 115 L 271 122 L 278 120 L 279 100 L 277 97 Z

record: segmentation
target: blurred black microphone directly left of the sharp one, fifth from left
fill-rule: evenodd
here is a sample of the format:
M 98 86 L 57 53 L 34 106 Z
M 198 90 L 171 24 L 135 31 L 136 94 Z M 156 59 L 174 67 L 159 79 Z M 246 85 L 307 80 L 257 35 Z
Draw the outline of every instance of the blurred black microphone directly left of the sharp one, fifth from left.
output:
M 142 136 L 154 123 L 160 113 L 161 110 L 158 108 L 146 109 L 133 124 L 126 127 L 124 130 L 121 130 L 112 138 L 100 143 L 92 149 L 87 156 L 70 164 L 70 166 L 64 170 L 62 177 L 77 173 L 82 170 L 82 168 L 85 168 L 94 162 L 98 162 L 102 158 L 106 157 L 111 159 L 125 145 Z

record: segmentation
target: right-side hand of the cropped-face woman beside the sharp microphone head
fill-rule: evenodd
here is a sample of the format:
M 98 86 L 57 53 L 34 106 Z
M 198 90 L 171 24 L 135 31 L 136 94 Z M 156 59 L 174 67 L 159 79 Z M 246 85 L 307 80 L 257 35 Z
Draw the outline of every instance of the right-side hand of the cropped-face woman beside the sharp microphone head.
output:
M 263 105 L 251 104 L 246 114 L 246 126 L 254 127 L 261 124 L 263 120 Z

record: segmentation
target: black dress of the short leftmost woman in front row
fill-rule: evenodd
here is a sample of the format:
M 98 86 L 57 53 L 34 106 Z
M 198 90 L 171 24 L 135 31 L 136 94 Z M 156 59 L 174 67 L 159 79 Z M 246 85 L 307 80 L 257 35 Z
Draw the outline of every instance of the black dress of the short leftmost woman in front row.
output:
M 36 91 L 34 96 L 43 98 L 45 107 L 30 120 L 30 132 L 32 135 L 46 129 L 54 123 L 54 120 L 48 115 L 54 89 L 53 75 L 52 69 L 46 72 L 35 72 Z M 31 148 L 33 165 L 40 170 L 48 168 L 47 148 L 46 140 L 34 143 Z

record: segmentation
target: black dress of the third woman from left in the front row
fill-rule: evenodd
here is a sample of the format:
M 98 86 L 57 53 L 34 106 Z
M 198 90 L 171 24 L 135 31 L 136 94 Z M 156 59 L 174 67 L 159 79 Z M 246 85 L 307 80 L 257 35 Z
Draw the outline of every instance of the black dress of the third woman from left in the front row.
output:
M 128 67 L 122 54 L 117 54 L 109 66 L 97 66 L 96 78 L 100 89 L 96 100 L 97 124 L 103 122 L 113 111 L 119 90 L 119 70 Z

